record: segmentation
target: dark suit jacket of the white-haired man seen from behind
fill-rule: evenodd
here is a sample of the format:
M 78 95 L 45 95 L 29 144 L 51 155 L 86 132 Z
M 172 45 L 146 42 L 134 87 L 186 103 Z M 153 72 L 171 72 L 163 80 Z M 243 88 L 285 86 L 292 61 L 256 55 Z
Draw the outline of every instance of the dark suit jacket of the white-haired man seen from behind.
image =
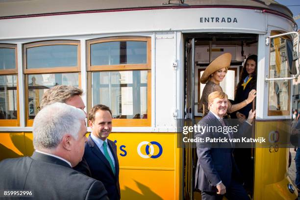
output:
M 31 157 L 2 160 L 0 177 L 0 189 L 30 190 L 34 198 L 29 199 L 107 200 L 100 181 L 76 172 L 63 160 L 39 152 Z

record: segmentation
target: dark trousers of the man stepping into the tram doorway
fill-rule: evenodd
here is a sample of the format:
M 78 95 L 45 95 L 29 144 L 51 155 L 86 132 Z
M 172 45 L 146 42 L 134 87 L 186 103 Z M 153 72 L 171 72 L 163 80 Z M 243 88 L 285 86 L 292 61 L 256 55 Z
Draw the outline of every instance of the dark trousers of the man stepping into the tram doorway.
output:
M 228 200 L 250 200 L 246 190 L 235 180 L 231 181 L 230 187 L 226 187 L 225 195 L 218 195 L 215 192 L 201 192 L 202 200 L 222 200 L 225 196 Z

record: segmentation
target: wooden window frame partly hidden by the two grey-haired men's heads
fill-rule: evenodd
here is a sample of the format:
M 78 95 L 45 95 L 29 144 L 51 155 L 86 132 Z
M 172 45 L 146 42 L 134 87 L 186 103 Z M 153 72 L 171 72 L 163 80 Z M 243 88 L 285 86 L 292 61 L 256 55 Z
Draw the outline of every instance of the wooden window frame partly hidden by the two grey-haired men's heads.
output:
M 26 50 L 33 47 L 52 46 L 52 45 L 75 45 L 77 46 L 77 66 L 66 67 L 51 67 L 51 68 L 34 68 L 26 69 L 27 67 L 27 54 Z M 32 43 L 26 43 L 23 45 L 23 70 L 25 75 L 25 122 L 26 126 L 33 125 L 33 119 L 29 119 L 29 100 L 28 100 L 28 76 L 29 75 L 46 75 L 46 74 L 78 74 L 78 87 L 81 88 L 81 52 L 80 52 L 80 41 L 79 40 L 47 40 L 38 41 Z M 36 115 L 36 113 L 35 113 Z

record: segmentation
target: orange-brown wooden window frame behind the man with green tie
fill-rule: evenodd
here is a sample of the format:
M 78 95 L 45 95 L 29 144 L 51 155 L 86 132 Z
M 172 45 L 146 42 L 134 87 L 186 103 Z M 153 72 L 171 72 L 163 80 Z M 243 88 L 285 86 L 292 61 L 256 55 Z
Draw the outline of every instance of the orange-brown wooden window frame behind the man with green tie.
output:
M 119 41 L 137 41 L 147 42 L 147 62 L 138 64 L 117 64 L 117 65 L 96 65 L 91 66 L 91 45 L 104 42 Z M 92 73 L 95 72 L 115 72 L 115 71 L 147 71 L 147 119 L 113 119 L 114 126 L 134 127 L 134 126 L 151 126 L 151 37 L 145 36 L 118 36 L 97 38 L 86 41 L 86 65 L 87 65 L 87 111 L 92 108 Z M 117 110 L 118 111 L 118 110 Z

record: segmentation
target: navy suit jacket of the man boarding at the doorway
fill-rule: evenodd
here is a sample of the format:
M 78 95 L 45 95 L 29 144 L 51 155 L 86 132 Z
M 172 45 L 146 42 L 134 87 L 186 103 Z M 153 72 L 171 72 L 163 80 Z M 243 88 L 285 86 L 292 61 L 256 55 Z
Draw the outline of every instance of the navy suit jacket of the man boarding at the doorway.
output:
M 219 120 L 209 112 L 203 119 L 198 123 L 200 126 L 218 126 L 221 125 Z M 243 128 L 249 128 L 250 125 L 243 124 Z M 224 134 L 217 132 L 205 131 L 195 133 L 195 137 L 210 137 L 219 138 L 219 136 L 224 137 Z M 201 134 L 203 133 L 203 134 Z M 232 133 L 230 133 L 230 138 L 233 138 Z M 228 148 L 212 148 L 209 145 L 202 146 L 197 143 L 197 155 L 198 162 L 196 168 L 195 176 L 195 186 L 205 192 L 217 192 L 215 187 L 221 180 L 226 188 L 230 186 L 233 175 L 238 176 L 239 170 L 233 158 L 233 148 L 228 144 Z M 224 146 L 223 146 L 224 147 Z

